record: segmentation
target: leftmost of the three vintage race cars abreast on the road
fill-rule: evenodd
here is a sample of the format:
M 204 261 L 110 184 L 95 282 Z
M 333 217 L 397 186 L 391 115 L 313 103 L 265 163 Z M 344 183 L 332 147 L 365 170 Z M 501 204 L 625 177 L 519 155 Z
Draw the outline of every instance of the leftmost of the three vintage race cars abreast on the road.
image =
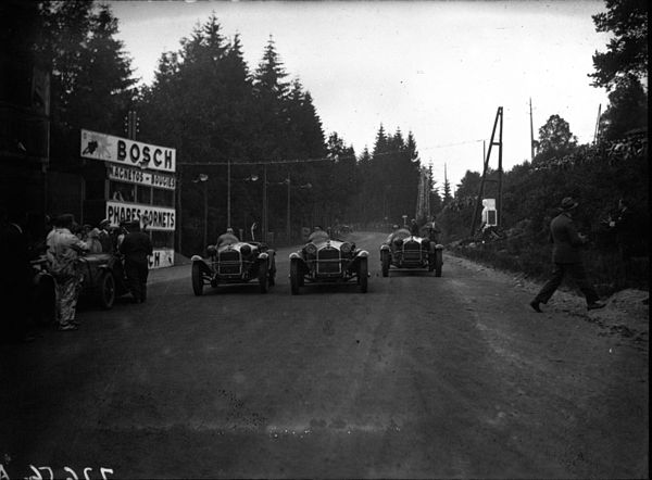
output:
M 275 252 L 261 242 L 236 242 L 220 248 L 209 245 L 209 261 L 192 255 L 192 291 L 203 294 L 203 287 L 210 285 L 249 283 L 255 279 L 261 293 L 276 282 Z

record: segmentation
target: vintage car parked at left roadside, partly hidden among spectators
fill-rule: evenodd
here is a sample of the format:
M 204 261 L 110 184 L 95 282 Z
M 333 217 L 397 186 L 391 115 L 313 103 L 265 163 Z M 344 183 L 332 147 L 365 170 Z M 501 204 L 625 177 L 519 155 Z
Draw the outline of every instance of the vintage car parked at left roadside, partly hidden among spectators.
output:
M 87 253 L 79 256 L 78 268 L 84 274 L 80 299 L 111 308 L 115 299 L 129 292 L 120 256 L 112 253 Z

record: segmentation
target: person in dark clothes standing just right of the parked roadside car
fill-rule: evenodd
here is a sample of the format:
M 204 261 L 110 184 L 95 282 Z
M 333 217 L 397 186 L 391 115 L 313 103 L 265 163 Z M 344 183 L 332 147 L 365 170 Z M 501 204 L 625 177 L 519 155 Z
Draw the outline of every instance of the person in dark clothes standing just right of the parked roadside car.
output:
M 125 256 L 125 274 L 134 302 L 143 303 L 147 300 L 148 256 L 153 254 L 153 247 L 149 235 L 140 231 L 138 220 L 127 227 L 120 253 Z

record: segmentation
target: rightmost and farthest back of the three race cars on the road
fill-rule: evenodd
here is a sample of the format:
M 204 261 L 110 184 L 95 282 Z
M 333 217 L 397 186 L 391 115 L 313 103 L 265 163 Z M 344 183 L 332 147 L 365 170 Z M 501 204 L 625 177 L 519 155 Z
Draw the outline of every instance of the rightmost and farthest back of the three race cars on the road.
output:
M 389 275 L 389 268 L 427 268 L 441 277 L 443 245 L 425 237 L 417 237 L 405 228 L 391 233 L 380 245 L 380 267 L 383 276 Z

